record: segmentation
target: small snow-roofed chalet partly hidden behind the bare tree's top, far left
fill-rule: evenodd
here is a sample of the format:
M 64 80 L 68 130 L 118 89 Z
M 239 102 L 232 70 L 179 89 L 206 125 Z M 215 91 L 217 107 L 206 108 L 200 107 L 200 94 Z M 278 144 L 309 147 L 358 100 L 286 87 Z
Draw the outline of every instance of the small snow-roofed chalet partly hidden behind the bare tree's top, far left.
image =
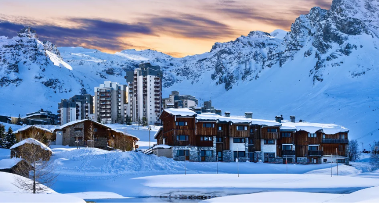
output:
M 25 140 L 26 138 L 30 138 L 33 133 L 36 133 L 37 137 L 41 139 L 46 136 L 46 139 L 49 141 L 54 141 L 55 136 L 52 130 L 37 126 L 37 125 L 26 125 L 16 131 L 13 132 L 16 135 L 18 141 Z M 41 140 L 40 139 L 40 140 Z

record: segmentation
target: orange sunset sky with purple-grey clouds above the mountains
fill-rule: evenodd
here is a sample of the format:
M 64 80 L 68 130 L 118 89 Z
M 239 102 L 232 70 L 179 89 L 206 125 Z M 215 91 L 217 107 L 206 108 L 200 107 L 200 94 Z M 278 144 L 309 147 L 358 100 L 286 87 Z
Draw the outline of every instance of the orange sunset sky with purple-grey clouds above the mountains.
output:
M 183 57 L 250 31 L 290 31 L 312 7 L 332 0 L 2 0 L 0 36 L 30 26 L 59 47 L 115 53 L 152 49 Z

